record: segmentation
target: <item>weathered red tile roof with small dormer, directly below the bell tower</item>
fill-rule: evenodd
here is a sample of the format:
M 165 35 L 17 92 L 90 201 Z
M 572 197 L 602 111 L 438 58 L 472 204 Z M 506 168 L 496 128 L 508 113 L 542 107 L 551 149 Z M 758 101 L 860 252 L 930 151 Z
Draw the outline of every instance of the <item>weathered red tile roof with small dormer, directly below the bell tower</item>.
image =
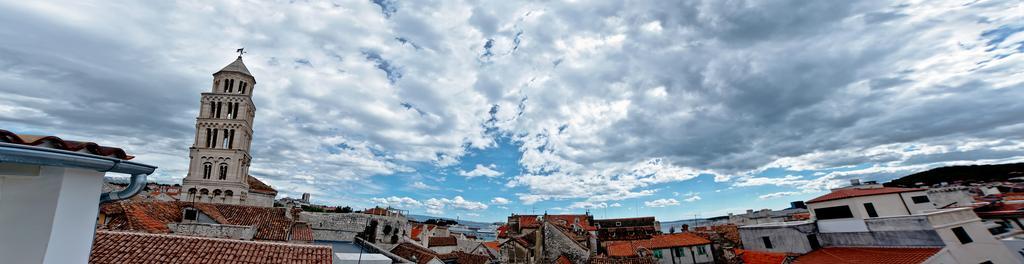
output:
M 110 222 L 102 228 L 111 230 L 170 233 L 168 223 L 181 222 L 182 210 L 191 207 L 186 202 L 129 202 L 123 201 L 101 206 Z M 284 208 L 265 208 L 221 204 L 196 203 L 195 208 L 220 224 L 256 226 L 253 239 L 288 240 L 293 220 L 285 216 Z

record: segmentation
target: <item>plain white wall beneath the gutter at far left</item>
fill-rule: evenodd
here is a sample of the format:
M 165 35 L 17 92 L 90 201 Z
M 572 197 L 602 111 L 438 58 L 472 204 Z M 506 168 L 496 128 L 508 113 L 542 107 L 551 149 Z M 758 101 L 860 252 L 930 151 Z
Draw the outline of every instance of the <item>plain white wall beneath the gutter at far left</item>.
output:
M 86 263 L 103 173 L 0 164 L 4 263 Z

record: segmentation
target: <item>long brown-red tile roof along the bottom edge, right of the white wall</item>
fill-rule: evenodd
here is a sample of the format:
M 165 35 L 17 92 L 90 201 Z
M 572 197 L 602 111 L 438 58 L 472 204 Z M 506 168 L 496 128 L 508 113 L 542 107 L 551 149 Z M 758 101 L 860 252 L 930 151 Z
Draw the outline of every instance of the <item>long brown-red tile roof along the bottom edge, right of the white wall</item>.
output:
M 327 246 L 97 231 L 89 263 L 330 264 L 333 258 Z

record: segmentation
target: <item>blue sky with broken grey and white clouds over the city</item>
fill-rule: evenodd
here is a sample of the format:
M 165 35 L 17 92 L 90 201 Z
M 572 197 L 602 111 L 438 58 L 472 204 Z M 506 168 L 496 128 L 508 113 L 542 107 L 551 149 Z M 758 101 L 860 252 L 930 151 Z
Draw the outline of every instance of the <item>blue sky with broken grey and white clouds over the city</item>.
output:
M 245 47 L 282 195 L 711 217 L 1024 161 L 1020 1 L 0 0 L 0 129 L 187 169 Z

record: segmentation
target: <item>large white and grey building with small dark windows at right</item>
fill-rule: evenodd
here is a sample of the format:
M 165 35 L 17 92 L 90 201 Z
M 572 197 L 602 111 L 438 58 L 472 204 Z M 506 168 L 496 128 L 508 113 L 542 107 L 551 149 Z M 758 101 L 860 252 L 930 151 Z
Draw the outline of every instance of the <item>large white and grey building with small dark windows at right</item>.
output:
M 970 208 L 935 209 L 926 189 L 853 185 L 807 202 L 812 220 L 741 226 L 748 250 L 934 248 L 923 263 L 1016 263 Z

